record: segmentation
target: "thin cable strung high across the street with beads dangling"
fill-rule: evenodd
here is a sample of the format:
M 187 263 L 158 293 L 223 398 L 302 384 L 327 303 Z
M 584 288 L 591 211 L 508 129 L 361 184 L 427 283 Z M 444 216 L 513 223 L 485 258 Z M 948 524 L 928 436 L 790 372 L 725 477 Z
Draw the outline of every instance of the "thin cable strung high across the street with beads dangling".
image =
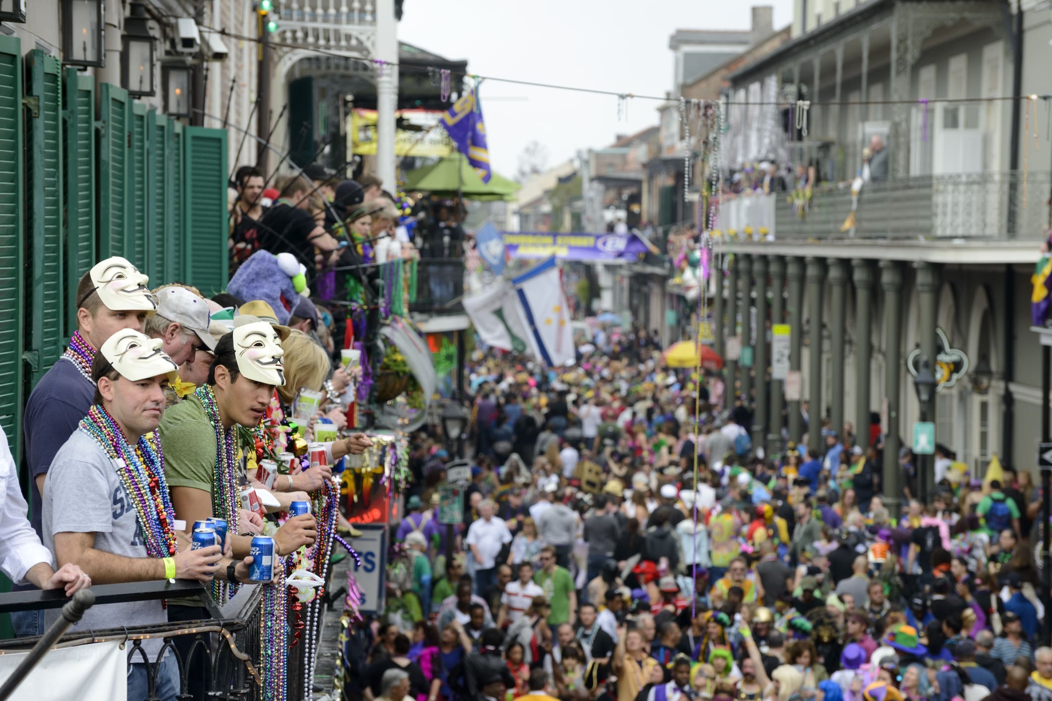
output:
M 215 27 L 199 25 L 202 28 L 208 29 L 209 32 L 216 32 L 222 36 L 229 37 L 230 39 L 237 39 L 239 41 L 250 41 L 260 43 L 262 40 L 259 37 L 249 37 L 245 35 L 234 34 L 226 29 L 217 29 Z M 282 29 L 279 29 L 281 32 Z M 592 87 L 579 87 L 574 85 L 559 85 L 555 83 L 543 83 L 539 81 L 529 80 L 519 80 L 515 78 L 499 78 L 495 76 L 481 76 L 473 73 L 451 70 L 448 68 L 441 68 L 437 65 L 419 65 L 419 64 L 405 64 L 399 63 L 397 61 L 382 61 L 380 59 L 366 59 L 357 56 L 347 56 L 345 54 L 340 54 L 338 51 L 328 50 L 325 48 L 317 47 L 305 47 L 300 44 L 291 44 L 288 42 L 274 41 L 268 39 L 267 45 L 280 48 L 295 48 L 295 49 L 305 49 L 312 54 L 319 56 L 328 56 L 331 58 L 343 59 L 346 61 L 356 61 L 358 63 L 365 63 L 375 67 L 380 66 L 392 66 L 404 70 L 413 70 L 417 73 L 427 73 L 430 70 L 447 70 L 451 76 L 461 76 L 463 78 L 472 78 L 477 81 L 488 80 L 494 83 L 510 83 L 513 85 L 526 85 L 529 87 L 543 87 L 552 90 L 568 90 L 572 92 L 584 92 L 588 95 L 605 95 L 613 98 L 620 99 L 639 99 L 639 100 L 653 100 L 658 102 L 665 102 L 669 104 L 676 103 L 681 98 L 672 97 L 656 97 L 652 95 L 636 95 L 634 92 L 616 92 L 614 90 L 604 90 L 601 88 Z M 807 105 L 809 107 L 831 107 L 831 106 L 843 106 L 843 105 L 916 105 L 926 106 L 935 103 L 946 103 L 946 104 L 966 104 L 966 103 L 978 103 L 978 102 L 998 102 L 998 101 L 1010 101 L 1010 100 L 1037 100 L 1041 99 L 1045 101 L 1052 100 L 1052 95 L 1018 95 L 1018 96 L 996 96 L 996 97 L 986 97 L 986 98 L 928 98 L 920 100 L 841 100 L 838 102 L 818 102 L 818 101 L 808 101 Z M 794 100 L 778 100 L 778 101 L 761 101 L 761 102 L 737 102 L 734 100 L 697 100 L 697 99 L 686 99 L 686 102 L 690 104 L 712 104 L 719 102 L 723 106 L 775 106 L 775 107 L 793 107 L 805 101 L 794 101 Z

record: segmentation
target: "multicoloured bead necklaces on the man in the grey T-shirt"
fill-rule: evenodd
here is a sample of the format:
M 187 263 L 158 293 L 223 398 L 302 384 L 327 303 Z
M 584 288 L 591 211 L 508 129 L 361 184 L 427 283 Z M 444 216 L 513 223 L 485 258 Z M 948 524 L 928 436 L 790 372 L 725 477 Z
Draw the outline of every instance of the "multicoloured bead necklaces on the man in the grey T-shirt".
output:
M 80 430 L 92 437 L 117 466 L 117 475 L 135 507 L 139 530 L 150 557 L 171 557 L 178 552 L 176 514 L 164 479 L 164 453 L 154 435 L 139 438 L 133 448 L 117 421 L 101 405 L 87 410 Z

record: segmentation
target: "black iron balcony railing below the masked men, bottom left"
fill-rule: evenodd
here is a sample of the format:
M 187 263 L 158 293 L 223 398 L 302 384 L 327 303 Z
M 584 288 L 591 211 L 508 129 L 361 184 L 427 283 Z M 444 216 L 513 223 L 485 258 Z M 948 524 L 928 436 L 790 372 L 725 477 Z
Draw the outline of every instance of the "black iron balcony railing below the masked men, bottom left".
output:
M 213 619 L 160 623 L 154 625 L 129 625 L 99 631 L 78 631 L 61 638 L 56 647 L 88 645 L 106 640 L 122 640 L 127 646 L 128 663 L 149 662 L 156 664 L 166 654 L 176 656 L 179 665 L 179 698 L 190 698 L 190 680 L 199 675 L 205 693 L 211 699 L 254 701 L 260 698 L 260 586 L 243 586 L 222 609 L 216 606 L 198 582 L 179 580 L 168 582 L 138 582 L 134 584 L 106 584 L 93 586 L 94 605 L 175 599 L 198 596 Z M 19 592 L 0 595 L 0 613 L 34 611 L 61 607 L 68 599 L 62 591 Z M 187 659 L 179 653 L 175 640 L 190 637 Z M 0 641 L 0 654 L 33 648 L 42 638 L 18 638 Z M 144 640 L 163 640 L 160 652 L 150 659 L 142 643 Z M 49 648 L 48 644 L 46 648 Z M 31 656 L 32 657 L 32 656 Z M 194 664 L 187 664 L 195 660 Z M 29 660 L 33 664 L 37 660 Z M 29 665 L 32 668 L 32 664 Z M 28 669 L 26 669 L 28 672 Z M 156 673 L 148 675 L 147 701 L 157 698 Z M 61 683 L 61 680 L 57 680 Z

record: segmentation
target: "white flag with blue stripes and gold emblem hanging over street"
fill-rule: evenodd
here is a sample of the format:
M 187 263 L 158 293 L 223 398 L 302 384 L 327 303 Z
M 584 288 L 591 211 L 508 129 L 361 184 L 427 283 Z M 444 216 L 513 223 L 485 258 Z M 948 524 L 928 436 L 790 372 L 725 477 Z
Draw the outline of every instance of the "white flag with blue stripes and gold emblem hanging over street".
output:
M 519 297 L 519 312 L 530 350 L 545 365 L 572 360 L 573 330 L 570 310 L 563 293 L 563 281 L 555 259 L 537 266 L 512 281 Z

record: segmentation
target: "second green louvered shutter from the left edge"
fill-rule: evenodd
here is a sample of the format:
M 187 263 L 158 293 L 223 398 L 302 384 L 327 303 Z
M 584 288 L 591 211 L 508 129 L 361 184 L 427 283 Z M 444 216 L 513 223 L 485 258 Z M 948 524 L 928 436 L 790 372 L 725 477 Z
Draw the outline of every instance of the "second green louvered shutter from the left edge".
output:
M 36 109 L 26 111 L 28 148 L 28 230 L 26 250 L 33 277 L 25 307 L 32 309 L 29 358 L 32 382 L 58 359 L 64 347 L 64 277 L 62 275 L 62 66 L 35 49 L 26 58 L 26 94 Z

